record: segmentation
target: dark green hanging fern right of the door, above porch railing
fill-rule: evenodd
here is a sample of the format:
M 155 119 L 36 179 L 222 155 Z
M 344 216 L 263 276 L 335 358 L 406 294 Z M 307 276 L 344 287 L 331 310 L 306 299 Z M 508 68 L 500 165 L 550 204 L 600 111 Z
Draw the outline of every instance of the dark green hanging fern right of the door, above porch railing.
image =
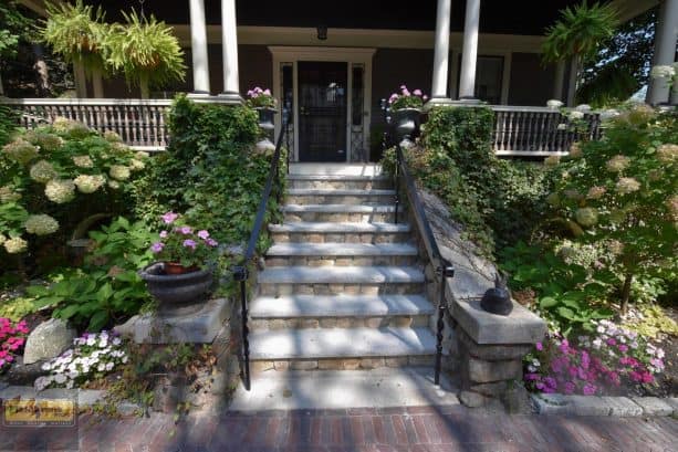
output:
M 614 36 L 618 23 L 617 11 L 609 3 L 588 6 L 584 0 L 578 6 L 565 8 L 560 20 L 546 29 L 543 62 L 574 59 L 578 81 L 583 64 L 593 60 L 601 45 Z

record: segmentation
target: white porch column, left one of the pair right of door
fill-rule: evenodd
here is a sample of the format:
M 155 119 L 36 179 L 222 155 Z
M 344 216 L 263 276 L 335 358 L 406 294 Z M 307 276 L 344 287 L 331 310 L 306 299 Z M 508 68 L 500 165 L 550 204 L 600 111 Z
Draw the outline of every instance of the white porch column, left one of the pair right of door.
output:
M 450 102 L 450 98 L 447 96 L 447 75 L 450 55 L 451 3 L 451 0 L 438 0 L 434 50 L 434 82 L 429 101 L 431 104 Z

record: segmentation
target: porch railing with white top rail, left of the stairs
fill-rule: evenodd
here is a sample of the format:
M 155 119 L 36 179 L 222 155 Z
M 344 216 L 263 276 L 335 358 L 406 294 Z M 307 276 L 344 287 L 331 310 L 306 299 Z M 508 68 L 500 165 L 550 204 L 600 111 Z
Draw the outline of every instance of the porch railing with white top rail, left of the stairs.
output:
M 65 117 L 98 130 L 117 133 L 136 149 L 163 150 L 169 143 L 165 112 L 171 99 L 0 98 L 21 112 L 21 125 L 34 128 Z

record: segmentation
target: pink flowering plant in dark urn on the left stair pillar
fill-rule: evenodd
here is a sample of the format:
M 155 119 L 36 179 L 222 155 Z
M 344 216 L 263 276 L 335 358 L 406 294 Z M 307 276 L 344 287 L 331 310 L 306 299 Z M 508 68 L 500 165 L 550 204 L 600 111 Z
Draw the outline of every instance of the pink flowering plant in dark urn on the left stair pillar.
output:
M 150 246 L 158 260 L 190 269 L 204 267 L 215 255 L 219 243 L 210 236 L 209 231 L 186 224 L 175 212 L 165 213 L 163 223 L 167 230 L 160 231 L 159 240 Z

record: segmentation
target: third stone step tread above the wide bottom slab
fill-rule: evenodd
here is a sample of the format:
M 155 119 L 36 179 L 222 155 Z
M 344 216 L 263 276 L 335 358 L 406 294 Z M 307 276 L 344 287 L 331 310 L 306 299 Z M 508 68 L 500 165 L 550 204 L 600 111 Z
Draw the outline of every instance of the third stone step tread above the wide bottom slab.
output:
M 411 266 L 274 266 L 259 273 L 260 284 L 383 284 L 424 283 Z

